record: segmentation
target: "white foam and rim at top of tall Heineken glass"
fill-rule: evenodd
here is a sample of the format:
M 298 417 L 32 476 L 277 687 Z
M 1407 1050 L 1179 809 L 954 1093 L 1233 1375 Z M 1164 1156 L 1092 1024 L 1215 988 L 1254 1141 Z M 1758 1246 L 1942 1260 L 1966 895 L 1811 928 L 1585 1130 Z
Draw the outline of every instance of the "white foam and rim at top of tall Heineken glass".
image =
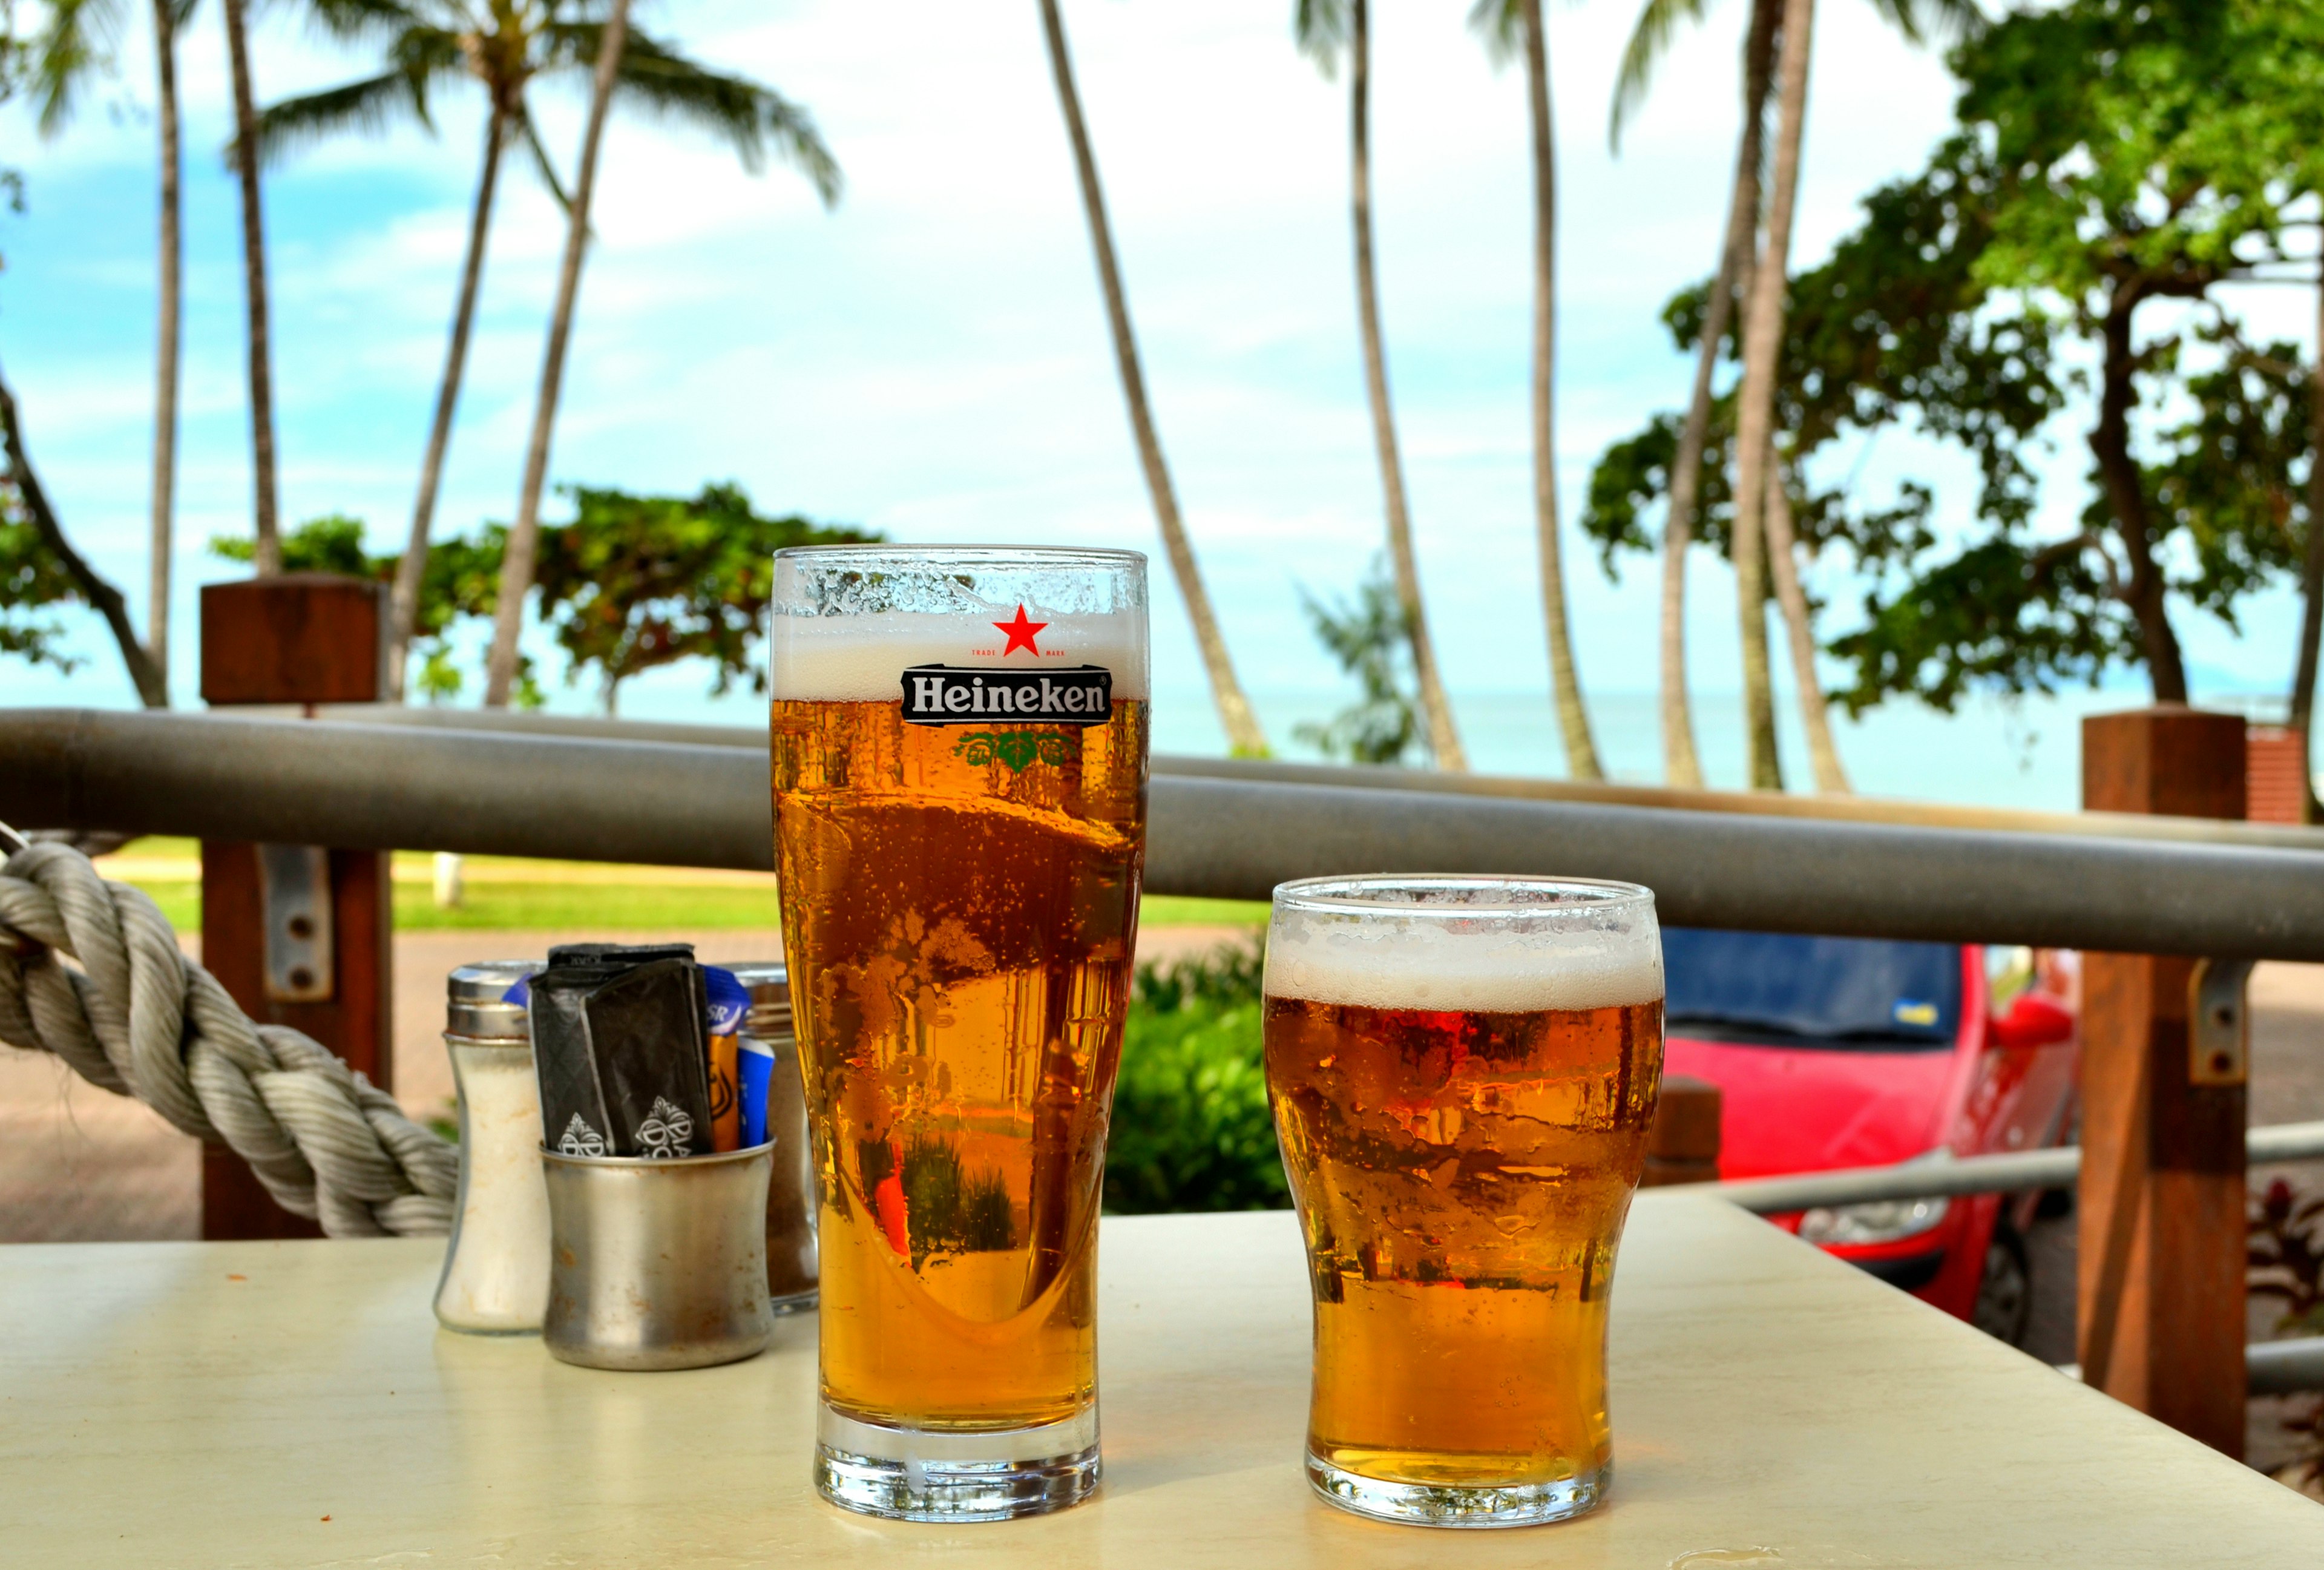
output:
M 779 699 L 890 701 L 913 664 L 1102 664 L 1113 697 L 1143 699 L 1146 557 L 992 546 L 783 550 L 767 657 Z

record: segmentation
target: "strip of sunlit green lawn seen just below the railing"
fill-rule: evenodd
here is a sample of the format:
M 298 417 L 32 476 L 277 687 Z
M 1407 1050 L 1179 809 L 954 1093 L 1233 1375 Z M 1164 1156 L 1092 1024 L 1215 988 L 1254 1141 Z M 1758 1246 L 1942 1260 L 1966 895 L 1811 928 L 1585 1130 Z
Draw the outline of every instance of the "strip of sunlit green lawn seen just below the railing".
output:
M 200 883 L 142 883 L 179 931 L 202 927 Z M 1243 899 L 1171 899 L 1153 894 L 1139 920 L 1148 927 L 1232 927 L 1267 922 L 1267 906 Z M 472 883 L 467 903 L 439 910 L 425 883 L 395 885 L 400 931 L 667 931 L 674 927 L 776 927 L 774 894 L 739 887 L 614 883 Z

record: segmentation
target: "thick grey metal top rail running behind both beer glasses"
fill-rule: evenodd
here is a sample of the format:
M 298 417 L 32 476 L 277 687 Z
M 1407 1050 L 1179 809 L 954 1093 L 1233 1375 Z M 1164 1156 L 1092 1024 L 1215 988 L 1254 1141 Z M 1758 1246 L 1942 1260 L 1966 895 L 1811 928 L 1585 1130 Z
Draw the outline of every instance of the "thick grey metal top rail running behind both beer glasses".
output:
M 221 841 L 769 869 L 765 755 L 423 725 L 0 711 L 0 820 Z M 1157 773 L 1146 887 L 1343 871 L 1624 878 L 1666 922 L 2324 962 L 2324 857 Z

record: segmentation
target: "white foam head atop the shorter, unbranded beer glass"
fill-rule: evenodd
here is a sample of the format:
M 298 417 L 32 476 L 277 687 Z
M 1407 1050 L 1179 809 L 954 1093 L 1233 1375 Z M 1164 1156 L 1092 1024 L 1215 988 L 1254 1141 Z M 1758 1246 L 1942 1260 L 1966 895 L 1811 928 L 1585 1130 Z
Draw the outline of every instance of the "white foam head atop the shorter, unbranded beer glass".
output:
M 1655 901 L 1620 887 L 1455 878 L 1285 885 L 1267 931 L 1267 994 L 1478 1013 L 1652 1003 L 1662 996 Z

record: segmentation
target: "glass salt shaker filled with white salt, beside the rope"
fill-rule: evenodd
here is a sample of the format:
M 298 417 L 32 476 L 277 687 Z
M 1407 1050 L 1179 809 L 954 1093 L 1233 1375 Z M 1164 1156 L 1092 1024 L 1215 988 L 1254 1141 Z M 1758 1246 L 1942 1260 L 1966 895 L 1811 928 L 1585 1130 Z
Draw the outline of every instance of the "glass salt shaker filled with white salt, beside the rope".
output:
M 451 973 L 444 1047 L 460 1092 L 460 1203 L 435 1301 L 446 1331 L 539 1333 L 548 1312 L 541 1092 L 525 1006 L 502 1001 L 539 968 L 488 959 Z

